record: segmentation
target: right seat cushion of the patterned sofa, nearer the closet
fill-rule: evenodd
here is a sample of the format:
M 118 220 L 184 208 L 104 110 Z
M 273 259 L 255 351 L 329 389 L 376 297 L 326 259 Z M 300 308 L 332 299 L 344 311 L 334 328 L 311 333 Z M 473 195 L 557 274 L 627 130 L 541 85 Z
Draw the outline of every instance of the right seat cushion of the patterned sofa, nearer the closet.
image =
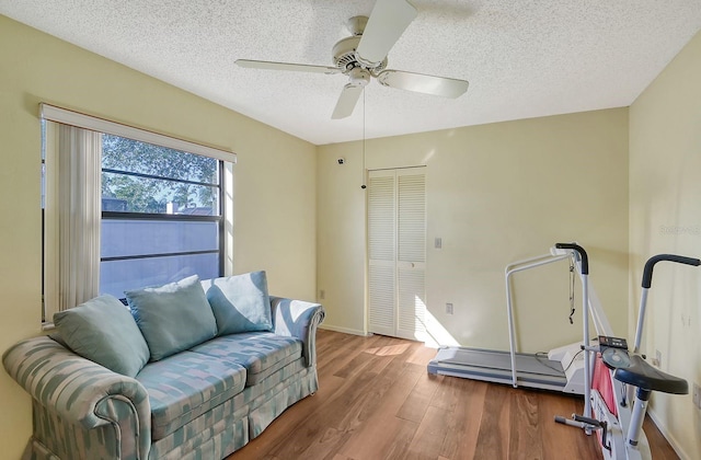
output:
M 246 386 L 250 387 L 301 359 L 302 343 L 299 338 L 272 332 L 246 332 L 217 337 L 189 350 L 240 364 L 245 367 Z

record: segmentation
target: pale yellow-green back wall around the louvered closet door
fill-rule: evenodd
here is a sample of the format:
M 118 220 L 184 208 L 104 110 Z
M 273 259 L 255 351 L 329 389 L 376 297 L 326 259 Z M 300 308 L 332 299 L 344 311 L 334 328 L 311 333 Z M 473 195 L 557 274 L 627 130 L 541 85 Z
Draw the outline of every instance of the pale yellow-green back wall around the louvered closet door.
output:
M 361 151 L 359 142 L 322 146 L 318 164 L 318 288 L 325 291 L 325 326 L 359 333 L 366 245 Z M 338 165 L 340 157 L 345 164 Z M 421 164 L 427 174 L 426 297 L 438 335 L 445 329 L 461 345 L 507 349 L 505 266 L 573 240 L 590 253 L 593 284 L 614 330 L 625 333 L 627 108 L 366 142 L 370 170 Z M 441 250 L 433 248 L 437 237 Z M 575 325 L 567 321 L 566 262 L 519 274 L 515 281 L 522 350 L 581 338 L 579 306 Z M 445 313 L 446 302 L 453 303 L 453 315 Z

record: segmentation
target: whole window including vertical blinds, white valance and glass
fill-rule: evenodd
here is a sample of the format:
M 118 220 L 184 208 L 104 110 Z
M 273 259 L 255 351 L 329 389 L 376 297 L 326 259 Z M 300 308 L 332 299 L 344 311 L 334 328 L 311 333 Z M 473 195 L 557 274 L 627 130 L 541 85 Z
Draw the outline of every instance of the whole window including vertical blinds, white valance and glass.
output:
M 42 127 L 44 322 L 96 295 L 230 273 L 232 153 L 46 105 Z

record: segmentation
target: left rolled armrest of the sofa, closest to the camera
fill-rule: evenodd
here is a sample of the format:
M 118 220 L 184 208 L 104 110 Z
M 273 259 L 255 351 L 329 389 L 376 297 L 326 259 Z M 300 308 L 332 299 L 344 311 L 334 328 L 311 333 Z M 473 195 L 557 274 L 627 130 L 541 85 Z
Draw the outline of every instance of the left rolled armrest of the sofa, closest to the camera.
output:
M 151 409 L 146 389 L 136 379 L 113 372 L 46 336 L 13 345 L 3 354 L 2 364 L 38 404 L 65 422 L 85 430 L 131 425 L 137 458 L 148 457 Z

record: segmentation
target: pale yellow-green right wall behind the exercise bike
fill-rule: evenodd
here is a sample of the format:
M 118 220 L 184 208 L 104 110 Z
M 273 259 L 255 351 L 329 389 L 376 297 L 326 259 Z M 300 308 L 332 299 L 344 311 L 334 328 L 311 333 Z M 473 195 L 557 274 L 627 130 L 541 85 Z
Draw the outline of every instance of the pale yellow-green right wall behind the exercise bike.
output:
M 701 257 L 701 33 L 630 108 L 631 320 L 645 261 L 658 253 Z M 643 352 L 662 369 L 701 383 L 701 269 L 654 271 Z M 634 326 L 630 327 L 631 335 Z M 651 414 L 682 458 L 701 458 L 701 411 L 691 394 L 654 394 Z

